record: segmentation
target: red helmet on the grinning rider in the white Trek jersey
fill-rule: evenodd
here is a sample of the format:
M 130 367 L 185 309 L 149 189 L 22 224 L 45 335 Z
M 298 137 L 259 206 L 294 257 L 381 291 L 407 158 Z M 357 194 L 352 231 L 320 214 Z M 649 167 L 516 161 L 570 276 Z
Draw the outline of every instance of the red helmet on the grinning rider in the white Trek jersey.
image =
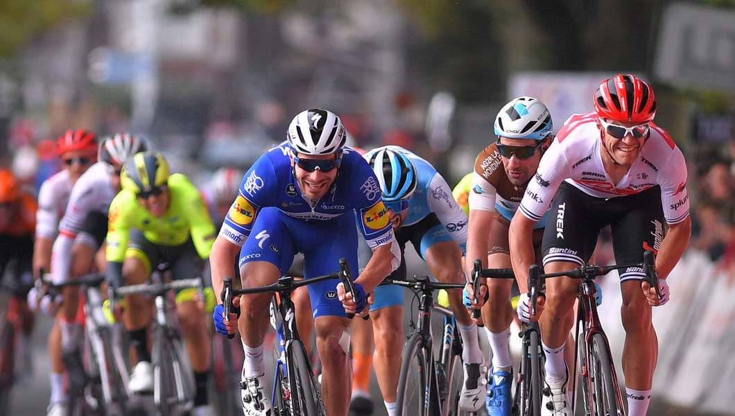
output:
M 629 73 L 619 73 L 600 83 L 595 111 L 615 121 L 648 123 L 656 115 L 656 98 L 650 85 Z

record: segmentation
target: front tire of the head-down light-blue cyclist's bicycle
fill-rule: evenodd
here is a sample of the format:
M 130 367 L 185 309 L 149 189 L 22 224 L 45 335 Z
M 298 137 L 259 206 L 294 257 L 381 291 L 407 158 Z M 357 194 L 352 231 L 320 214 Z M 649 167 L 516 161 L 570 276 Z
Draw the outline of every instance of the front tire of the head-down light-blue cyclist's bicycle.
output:
M 395 401 L 398 416 L 426 416 L 429 413 L 429 359 L 423 344 L 423 335 L 415 332 L 409 337 L 401 354 L 401 376 L 398 379 L 398 398 Z

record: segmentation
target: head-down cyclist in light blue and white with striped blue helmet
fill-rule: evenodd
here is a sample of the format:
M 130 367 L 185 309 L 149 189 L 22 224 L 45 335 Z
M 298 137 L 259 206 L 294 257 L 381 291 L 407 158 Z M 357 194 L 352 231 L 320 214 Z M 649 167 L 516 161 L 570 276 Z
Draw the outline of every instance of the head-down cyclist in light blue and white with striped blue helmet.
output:
M 395 238 L 403 254 L 411 242 L 426 260 L 437 280 L 465 283 L 462 255 L 467 243 L 467 214 L 454 201 L 451 187 L 426 160 L 399 146 L 384 146 L 365 154 L 378 176 L 383 203 L 388 209 Z M 406 262 L 391 275 L 406 278 Z M 465 382 L 459 405 L 468 412 L 481 408 L 484 398 L 484 368 L 478 344 L 477 326 L 462 306 L 462 290 L 450 290 L 449 304 L 465 345 Z M 403 287 L 385 285 L 375 290 L 370 306 L 375 334 L 375 367 L 388 415 L 395 412 L 396 389 L 401 370 L 403 347 Z

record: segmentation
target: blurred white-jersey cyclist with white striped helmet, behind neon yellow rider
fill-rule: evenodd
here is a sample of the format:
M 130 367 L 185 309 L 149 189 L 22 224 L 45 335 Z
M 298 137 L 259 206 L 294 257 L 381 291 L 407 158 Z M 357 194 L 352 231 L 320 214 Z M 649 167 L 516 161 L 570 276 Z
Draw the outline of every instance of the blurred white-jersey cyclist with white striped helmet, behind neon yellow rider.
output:
M 99 162 L 90 166 L 74 183 L 68 207 L 60 221 L 59 235 L 51 251 L 51 276 L 60 284 L 90 273 L 95 254 L 107 235 L 107 211 L 112 198 L 121 190 L 120 171 L 123 163 L 139 151 L 146 151 L 146 143 L 135 136 L 122 134 L 107 137 L 100 143 Z M 104 272 L 104 259 L 98 269 Z M 78 323 L 79 288 L 65 291 L 60 305 L 62 360 L 70 381 L 84 385 L 85 371 L 79 342 L 82 325 Z

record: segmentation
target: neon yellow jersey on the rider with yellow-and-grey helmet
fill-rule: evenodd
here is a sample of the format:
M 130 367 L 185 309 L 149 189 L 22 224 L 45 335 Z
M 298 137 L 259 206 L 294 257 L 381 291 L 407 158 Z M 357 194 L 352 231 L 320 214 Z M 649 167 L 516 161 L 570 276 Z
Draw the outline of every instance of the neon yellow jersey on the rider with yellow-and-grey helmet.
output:
M 199 257 L 207 259 L 216 229 L 196 187 L 181 173 L 168 178 L 168 209 L 161 218 L 148 212 L 131 190 L 121 190 L 110 204 L 107 261 L 123 262 L 130 229 L 139 229 L 154 244 L 181 245 L 193 240 Z

